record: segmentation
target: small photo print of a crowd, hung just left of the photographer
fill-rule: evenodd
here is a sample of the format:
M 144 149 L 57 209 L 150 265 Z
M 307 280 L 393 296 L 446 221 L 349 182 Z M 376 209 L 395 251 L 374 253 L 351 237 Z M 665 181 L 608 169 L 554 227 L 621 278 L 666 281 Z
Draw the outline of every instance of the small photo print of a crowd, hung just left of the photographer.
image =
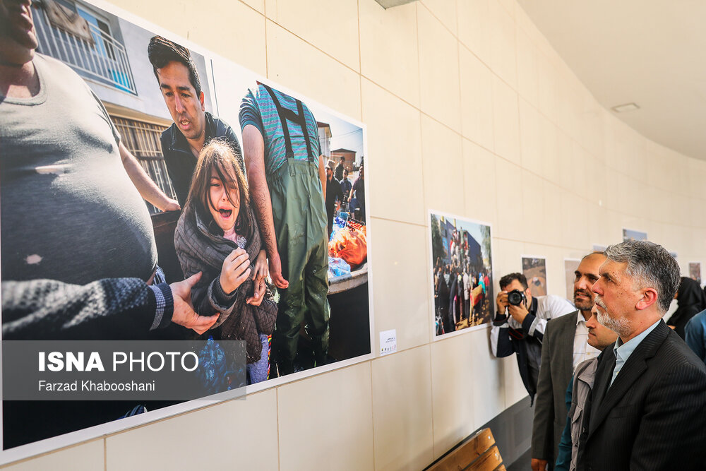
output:
M 492 320 L 491 229 L 480 222 L 431 213 L 436 335 Z

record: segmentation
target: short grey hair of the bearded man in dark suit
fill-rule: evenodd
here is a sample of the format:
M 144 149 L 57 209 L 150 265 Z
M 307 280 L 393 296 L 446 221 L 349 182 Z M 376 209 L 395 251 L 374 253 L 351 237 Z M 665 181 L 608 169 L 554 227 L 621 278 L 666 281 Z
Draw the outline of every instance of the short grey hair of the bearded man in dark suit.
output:
M 681 270 L 674 257 L 654 242 L 628 241 L 608 246 L 604 255 L 618 263 L 628 263 L 626 273 L 643 287 L 657 290 L 657 307 L 664 314 L 681 282 Z

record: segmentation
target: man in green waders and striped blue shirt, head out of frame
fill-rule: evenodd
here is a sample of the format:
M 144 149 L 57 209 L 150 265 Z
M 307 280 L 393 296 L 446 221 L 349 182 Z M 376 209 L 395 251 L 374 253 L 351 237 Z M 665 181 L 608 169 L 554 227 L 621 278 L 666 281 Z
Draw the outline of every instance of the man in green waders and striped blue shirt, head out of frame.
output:
M 240 107 L 251 201 L 280 288 L 273 342 L 279 374 L 294 372 L 302 321 L 316 365 L 328 352 L 326 174 L 318 126 L 301 101 L 258 83 Z

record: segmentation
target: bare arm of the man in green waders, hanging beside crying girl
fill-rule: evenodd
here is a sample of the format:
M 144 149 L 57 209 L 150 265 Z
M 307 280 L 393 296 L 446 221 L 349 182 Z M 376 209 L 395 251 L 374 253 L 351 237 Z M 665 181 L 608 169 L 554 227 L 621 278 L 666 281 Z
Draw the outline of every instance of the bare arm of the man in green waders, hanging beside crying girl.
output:
M 275 286 L 286 288 L 289 283 L 282 277 L 282 262 L 280 252 L 277 251 L 272 200 L 265 177 L 265 141 L 260 130 L 252 124 L 246 125 L 243 129 L 243 157 L 246 172 L 248 172 L 250 198 L 255 205 L 260 234 L 265 240 L 265 250 L 270 262 L 270 276 Z

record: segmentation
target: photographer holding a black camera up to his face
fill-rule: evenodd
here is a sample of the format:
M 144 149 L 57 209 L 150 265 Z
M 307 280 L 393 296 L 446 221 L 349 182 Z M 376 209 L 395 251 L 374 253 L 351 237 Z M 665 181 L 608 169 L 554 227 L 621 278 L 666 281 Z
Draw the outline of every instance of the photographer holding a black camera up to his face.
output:
M 500 289 L 490 333 L 491 349 L 498 358 L 517 354 L 522 383 L 534 403 L 546 323 L 574 312 L 576 308 L 566 299 L 551 294 L 532 297 L 527 278 L 522 273 L 503 276 Z

